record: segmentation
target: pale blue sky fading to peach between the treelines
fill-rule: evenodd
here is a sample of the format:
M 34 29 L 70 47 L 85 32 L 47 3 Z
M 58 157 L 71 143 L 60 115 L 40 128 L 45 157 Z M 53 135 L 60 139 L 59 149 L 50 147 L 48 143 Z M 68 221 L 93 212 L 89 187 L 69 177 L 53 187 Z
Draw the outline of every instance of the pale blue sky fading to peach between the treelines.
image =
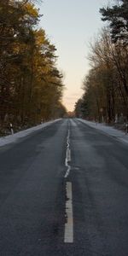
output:
M 108 0 L 44 0 L 39 6 L 40 26 L 57 48 L 57 67 L 66 87 L 62 102 L 68 111 L 83 94 L 83 79 L 90 68 L 89 42 L 105 25 L 99 9 L 107 5 Z

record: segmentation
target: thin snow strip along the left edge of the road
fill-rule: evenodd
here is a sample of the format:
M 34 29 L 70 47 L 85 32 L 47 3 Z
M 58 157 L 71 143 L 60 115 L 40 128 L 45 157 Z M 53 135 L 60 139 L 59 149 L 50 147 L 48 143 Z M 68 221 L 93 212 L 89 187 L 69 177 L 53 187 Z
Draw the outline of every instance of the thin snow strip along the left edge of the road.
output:
M 32 132 L 39 131 L 39 130 L 43 129 L 44 127 L 52 125 L 59 120 L 61 120 L 61 119 L 55 119 L 53 121 L 49 121 L 47 123 L 31 127 L 24 131 L 18 131 L 13 135 L 9 135 L 6 137 L 0 137 L 0 147 L 4 146 L 6 144 L 9 144 L 9 143 L 15 143 L 15 141 L 18 140 L 19 138 L 26 137 L 27 135 L 31 134 Z

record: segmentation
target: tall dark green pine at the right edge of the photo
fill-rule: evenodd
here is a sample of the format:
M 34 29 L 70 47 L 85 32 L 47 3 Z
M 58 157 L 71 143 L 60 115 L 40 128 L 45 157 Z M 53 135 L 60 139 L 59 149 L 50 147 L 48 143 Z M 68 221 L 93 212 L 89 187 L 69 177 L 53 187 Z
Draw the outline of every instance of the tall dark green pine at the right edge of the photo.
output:
M 100 12 L 102 20 L 109 22 L 112 43 L 114 44 L 113 59 L 119 73 L 120 90 L 128 118 L 128 1 L 120 0 L 111 8 L 100 9 Z

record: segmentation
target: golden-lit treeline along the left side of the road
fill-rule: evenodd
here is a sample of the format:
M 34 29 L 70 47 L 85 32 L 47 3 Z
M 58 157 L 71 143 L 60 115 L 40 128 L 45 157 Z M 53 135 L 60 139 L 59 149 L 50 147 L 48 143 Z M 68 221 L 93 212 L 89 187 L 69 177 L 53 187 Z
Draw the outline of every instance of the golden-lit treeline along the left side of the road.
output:
M 36 125 L 66 113 L 55 45 L 38 28 L 39 19 L 34 1 L 0 1 L 1 127 Z

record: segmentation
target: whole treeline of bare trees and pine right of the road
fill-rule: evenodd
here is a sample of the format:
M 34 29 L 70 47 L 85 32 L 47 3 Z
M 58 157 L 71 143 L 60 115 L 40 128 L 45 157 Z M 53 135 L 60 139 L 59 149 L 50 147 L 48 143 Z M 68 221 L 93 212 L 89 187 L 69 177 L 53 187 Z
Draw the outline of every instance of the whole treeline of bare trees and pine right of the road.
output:
M 128 120 L 128 1 L 100 9 L 108 26 L 90 44 L 90 71 L 84 95 L 75 105 L 79 117 L 108 123 Z

